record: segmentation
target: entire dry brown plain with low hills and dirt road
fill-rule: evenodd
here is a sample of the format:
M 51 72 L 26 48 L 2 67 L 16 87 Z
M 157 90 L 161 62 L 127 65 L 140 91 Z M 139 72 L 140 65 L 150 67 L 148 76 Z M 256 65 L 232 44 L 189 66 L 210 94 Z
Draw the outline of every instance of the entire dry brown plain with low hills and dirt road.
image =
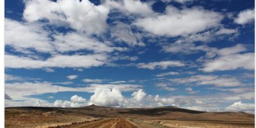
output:
M 81 108 L 20 107 L 5 109 L 5 127 L 254 127 L 254 115 L 205 112 L 175 107 Z

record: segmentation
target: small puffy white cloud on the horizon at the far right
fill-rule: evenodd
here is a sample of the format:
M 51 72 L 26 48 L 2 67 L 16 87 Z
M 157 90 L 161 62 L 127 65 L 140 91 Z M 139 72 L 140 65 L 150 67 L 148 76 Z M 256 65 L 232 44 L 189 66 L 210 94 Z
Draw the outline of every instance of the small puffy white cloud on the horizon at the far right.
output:
M 254 111 L 255 104 L 252 103 L 243 103 L 241 101 L 234 102 L 234 104 L 231 104 L 226 109 L 228 111 Z

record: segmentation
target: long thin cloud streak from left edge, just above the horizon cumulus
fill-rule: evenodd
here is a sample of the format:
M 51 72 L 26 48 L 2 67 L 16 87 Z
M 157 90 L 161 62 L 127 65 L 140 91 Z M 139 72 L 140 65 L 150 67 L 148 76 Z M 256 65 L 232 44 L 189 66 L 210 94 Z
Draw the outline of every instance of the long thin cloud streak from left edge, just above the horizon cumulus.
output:
M 57 86 L 49 82 L 5 83 L 4 89 L 14 100 L 27 99 L 30 95 L 56 92 L 95 92 L 96 88 L 116 88 L 121 92 L 133 92 L 141 88 L 138 84 L 88 84 L 83 87 Z

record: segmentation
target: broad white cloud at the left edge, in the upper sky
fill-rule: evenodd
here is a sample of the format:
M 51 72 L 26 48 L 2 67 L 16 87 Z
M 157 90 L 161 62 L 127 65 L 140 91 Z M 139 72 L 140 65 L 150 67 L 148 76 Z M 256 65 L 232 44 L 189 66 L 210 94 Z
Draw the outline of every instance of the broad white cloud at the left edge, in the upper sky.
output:
M 4 19 L 4 43 L 14 47 L 17 51 L 35 49 L 39 52 L 52 52 L 54 47 L 49 44 L 48 33 L 39 24 L 20 23 L 11 19 Z

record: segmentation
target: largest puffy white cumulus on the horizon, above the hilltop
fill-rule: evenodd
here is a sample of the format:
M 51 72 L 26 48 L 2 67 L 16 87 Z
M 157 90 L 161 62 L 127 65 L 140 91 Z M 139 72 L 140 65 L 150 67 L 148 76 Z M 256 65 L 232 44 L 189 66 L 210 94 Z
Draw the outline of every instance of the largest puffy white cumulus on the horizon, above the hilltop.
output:
M 124 96 L 122 93 L 113 88 L 96 88 L 95 93 L 90 98 L 89 104 L 95 104 L 98 106 L 122 106 L 124 102 Z

